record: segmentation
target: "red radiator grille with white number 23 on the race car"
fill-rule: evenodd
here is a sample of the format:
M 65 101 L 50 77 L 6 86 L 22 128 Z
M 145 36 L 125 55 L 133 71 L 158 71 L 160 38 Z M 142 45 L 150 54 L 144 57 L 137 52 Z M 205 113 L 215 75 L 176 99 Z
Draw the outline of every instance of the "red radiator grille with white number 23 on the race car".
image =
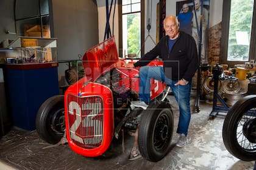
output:
M 100 96 L 68 95 L 68 131 L 71 140 L 86 149 L 97 148 L 103 137 L 103 100 Z

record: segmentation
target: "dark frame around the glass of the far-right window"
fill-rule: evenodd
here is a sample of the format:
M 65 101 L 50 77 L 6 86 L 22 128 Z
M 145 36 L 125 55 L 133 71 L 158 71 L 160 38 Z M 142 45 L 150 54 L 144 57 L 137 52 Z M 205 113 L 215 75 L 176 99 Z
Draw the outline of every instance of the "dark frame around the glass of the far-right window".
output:
M 229 22 L 230 22 L 230 8 L 232 0 L 223 1 L 222 5 L 222 29 L 221 29 L 221 53 L 219 61 L 221 64 L 228 64 L 229 67 L 234 67 L 235 64 L 244 64 L 244 61 L 227 61 L 227 50 L 229 46 Z M 249 61 L 256 59 L 256 0 L 254 0 L 254 10 L 252 14 L 252 30 L 251 41 L 249 47 Z

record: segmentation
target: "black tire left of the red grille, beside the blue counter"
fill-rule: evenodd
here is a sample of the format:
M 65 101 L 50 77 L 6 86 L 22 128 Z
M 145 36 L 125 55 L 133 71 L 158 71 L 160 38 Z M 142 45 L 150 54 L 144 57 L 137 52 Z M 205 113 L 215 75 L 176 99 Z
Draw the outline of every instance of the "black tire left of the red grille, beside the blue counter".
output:
M 65 131 L 64 95 L 55 95 L 44 101 L 35 121 L 41 139 L 51 144 L 58 143 Z

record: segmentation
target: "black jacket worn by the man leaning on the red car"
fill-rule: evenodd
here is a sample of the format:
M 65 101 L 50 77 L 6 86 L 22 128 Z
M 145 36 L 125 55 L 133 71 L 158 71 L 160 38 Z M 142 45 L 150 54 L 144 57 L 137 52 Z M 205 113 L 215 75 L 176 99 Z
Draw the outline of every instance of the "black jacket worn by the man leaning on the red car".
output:
M 169 50 L 168 38 L 165 36 L 158 42 L 157 46 L 146 53 L 135 67 L 146 66 L 157 56 L 162 58 L 165 75 L 171 80 L 190 80 L 199 68 L 199 58 L 197 55 L 196 42 L 191 35 L 180 32 L 179 37 Z

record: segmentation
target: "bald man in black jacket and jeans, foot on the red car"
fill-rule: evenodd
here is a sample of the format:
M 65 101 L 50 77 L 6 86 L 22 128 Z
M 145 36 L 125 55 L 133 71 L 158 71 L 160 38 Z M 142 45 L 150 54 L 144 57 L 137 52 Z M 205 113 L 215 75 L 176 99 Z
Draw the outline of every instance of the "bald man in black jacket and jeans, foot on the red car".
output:
M 188 126 L 190 124 L 190 93 L 192 77 L 199 67 L 196 42 L 185 32 L 179 32 L 179 21 L 176 16 L 167 16 L 164 20 L 166 36 L 150 52 L 146 53 L 137 63 L 124 64 L 124 67 L 140 68 L 140 101 L 133 101 L 133 106 L 146 109 L 150 102 L 150 80 L 164 81 L 168 84 L 179 104 L 180 116 L 177 133 L 179 141 L 176 146 L 187 144 Z M 146 66 L 159 56 L 163 67 Z M 134 148 L 134 147 L 133 147 Z M 132 149 L 134 151 L 134 149 Z M 138 152 L 135 152 L 138 155 Z

